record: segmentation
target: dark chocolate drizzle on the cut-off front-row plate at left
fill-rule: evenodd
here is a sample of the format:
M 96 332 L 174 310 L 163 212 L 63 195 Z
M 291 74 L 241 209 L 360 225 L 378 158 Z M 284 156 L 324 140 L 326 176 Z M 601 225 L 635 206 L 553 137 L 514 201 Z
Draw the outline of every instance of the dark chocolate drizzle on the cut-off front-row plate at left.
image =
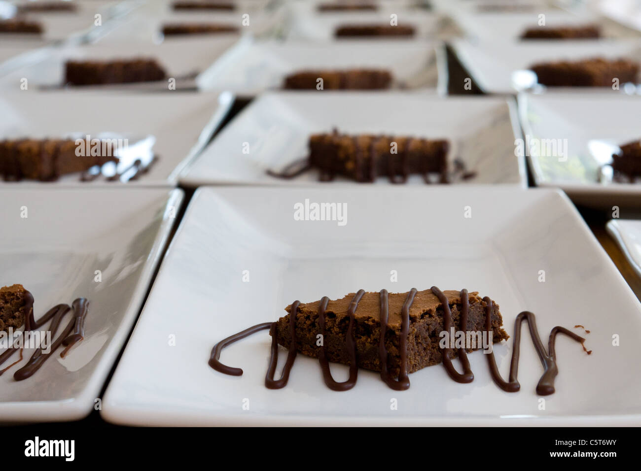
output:
M 33 353 L 33 355 L 31 355 L 31 358 L 29 358 L 29 361 L 26 363 L 26 365 L 19 368 L 19 370 L 17 370 L 13 374 L 13 378 L 16 381 L 22 381 L 23 379 L 27 379 L 28 377 L 32 376 L 35 372 L 37 372 L 37 370 L 40 369 L 40 367 L 42 367 L 47 358 L 53 355 L 53 353 L 61 345 L 65 347 L 65 349 L 63 349 L 63 351 L 60 353 L 60 357 L 65 358 L 67 352 L 69 352 L 69 349 L 76 345 L 76 343 L 83 340 L 85 336 L 85 318 L 87 317 L 88 305 L 89 302 L 87 301 L 87 299 L 78 298 L 74 302 L 72 302 L 71 307 L 67 304 L 58 304 L 57 306 L 54 306 L 49 311 L 47 311 L 47 313 L 41 318 L 35 320 L 35 317 L 33 316 L 33 295 L 31 295 L 31 293 L 29 292 L 26 292 L 26 301 L 24 304 L 25 318 L 23 335 L 35 329 L 39 329 L 40 327 L 44 326 L 46 322 L 49 322 L 49 320 L 51 320 L 48 331 L 51 332 L 51 336 L 53 337 L 58 331 L 58 327 L 60 327 L 60 323 L 62 322 L 63 317 L 65 317 L 65 315 L 71 310 L 74 311 L 74 315 L 71 320 L 69 320 L 69 323 L 67 323 L 67 326 L 65 326 L 60 335 L 58 335 L 53 340 L 53 342 L 51 342 L 51 345 L 46 345 L 46 347 L 40 345 L 40 347 L 42 348 L 37 349 Z M 20 358 L 17 361 L 14 361 L 8 367 L 0 370 L 0 375 L 11 368 L 13 365 L 22 361 L 23 348 L 24 345 L 20 348 L 13 347 L 12 345 L 11 347 L 8 347 L 2 354 L 0 354 L 0 365 L 2 365 L 4 361 L 9 359 L 15 353 L 15 351 L 20 352 Z M 46 348 L 48 349 L 48 352 L 44 352 Z

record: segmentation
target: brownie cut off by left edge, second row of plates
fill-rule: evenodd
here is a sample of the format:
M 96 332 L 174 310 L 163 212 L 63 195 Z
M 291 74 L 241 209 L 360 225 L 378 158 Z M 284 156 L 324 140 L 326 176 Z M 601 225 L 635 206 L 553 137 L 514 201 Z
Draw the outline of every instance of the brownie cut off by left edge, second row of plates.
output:
M 118 158 L 108 151 L 109 147 L 104 147 L 107 150 L 104 156 L 78 156 L 75 140 L 3 140 L 0 141 L 0 175 L 5 180 L 51 181 L 58 176 L 83 172 L 109 161 L 117 162 Z

